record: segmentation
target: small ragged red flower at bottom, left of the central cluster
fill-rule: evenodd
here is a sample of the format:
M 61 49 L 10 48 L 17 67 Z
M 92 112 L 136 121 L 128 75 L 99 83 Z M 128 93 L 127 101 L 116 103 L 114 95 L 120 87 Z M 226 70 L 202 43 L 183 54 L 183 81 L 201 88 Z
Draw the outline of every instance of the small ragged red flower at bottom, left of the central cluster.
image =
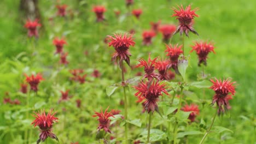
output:
M 110 129 L 109 129 L 109 123 L 110 123 L 110 119 L 108 119 L 109 117 L 114 117 L 112 115 L 112 111 L 107 112 L 108 111 L 108 107 L 107 109 L 104 111 L 102 111 L 101 108 L 101 112 L 95 112 L 95 115 L 93 115 L 92 117 L 98 117 L 98 122 L 100 122 L 98 124 L 98 131 L 100 131 L 101 129 L 103 129 L 106 133 L 111 133 Z

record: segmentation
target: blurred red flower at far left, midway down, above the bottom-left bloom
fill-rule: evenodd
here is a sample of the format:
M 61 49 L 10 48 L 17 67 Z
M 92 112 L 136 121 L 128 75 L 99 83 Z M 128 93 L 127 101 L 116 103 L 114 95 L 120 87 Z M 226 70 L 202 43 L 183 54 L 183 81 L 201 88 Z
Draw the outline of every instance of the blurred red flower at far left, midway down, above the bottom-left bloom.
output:
M 40 81 L 44 80 L 42 75 L 37 74 L 36 76 L 34 76 L 33 74 L 31 76 L 26 76 L 26 82 L 30 84 L 30 89 L 34 92 L 38 91 L 38 84 L 40 83 Z

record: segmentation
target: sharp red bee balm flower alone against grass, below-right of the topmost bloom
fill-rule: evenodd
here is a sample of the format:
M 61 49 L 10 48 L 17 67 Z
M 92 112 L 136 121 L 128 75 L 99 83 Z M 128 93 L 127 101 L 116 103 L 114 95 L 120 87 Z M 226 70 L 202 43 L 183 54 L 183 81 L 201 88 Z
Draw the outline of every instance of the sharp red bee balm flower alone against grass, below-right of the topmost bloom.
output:
M 196 54 L 199 59 L 198 65 L 200 66 L 201 63 L 203 63 L 204 65 L 207 65 L 206 59 L 207 59 L 208 53 L 210 53 L 211 51 L 215 53 L 213 44 L 211 43 L 207 44 L 206 41 L 195 42 L 194 44 L 195 44 L 194 46 L 191 46 L 192 50 L 190 52 L 196 51 Z

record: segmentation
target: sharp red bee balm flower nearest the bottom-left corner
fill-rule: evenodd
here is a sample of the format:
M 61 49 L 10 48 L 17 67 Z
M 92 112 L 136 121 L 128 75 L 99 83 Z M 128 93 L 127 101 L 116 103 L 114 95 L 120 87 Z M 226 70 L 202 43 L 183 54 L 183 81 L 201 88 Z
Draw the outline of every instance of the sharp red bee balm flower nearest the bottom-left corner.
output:
M 50 137 L 51 139 L 55 139 L 57 141 L 57 136 L 52 132 L 53 131 L 53 124 L 54 122 L 57 122 L 56 117 L 54 117 L 55 113 L 52 114 L 53 110 L 50 110 L 47 115 L 45 114 L 45 111 L 41 110 L 41 112 L 34 112 L 36 115 L 33 115 L 34 121 L 31 124 L 34 124 L 34 127 L 38 126 L 40 128 L 40 136 L 37 140 L 37 143 L 40 143 L 40 141 L 44 142 L 45 139 Z

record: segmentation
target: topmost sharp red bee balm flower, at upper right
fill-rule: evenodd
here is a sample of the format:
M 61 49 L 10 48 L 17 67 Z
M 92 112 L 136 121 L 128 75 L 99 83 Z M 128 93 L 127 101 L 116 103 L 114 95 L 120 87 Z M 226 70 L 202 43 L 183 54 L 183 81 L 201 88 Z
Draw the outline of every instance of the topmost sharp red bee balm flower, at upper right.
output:
M 194 34 L 197 34 L 197 32 L 192 27 L 193 23 L 191 23 L 195 16 L 199 17 L 197 14 L 195 14 L 195 11 L 197 11 L 197 9 L 191 10 L 191 5 L 188 5 L 188 7 L 186 7 L 185 9 L 183 8 L 182 5 L 181 7 L 178 6 L 178 8 L 179 10 L 173 8 L 174 14 L 172 15 L 172 17 L 177 16 L 176 19 L 179 20 L 179 26 L 177 27 L 175 33 L 179 32 L 181 35 L 185 33 L 187 37 L 189 37 L 189 31 Z

